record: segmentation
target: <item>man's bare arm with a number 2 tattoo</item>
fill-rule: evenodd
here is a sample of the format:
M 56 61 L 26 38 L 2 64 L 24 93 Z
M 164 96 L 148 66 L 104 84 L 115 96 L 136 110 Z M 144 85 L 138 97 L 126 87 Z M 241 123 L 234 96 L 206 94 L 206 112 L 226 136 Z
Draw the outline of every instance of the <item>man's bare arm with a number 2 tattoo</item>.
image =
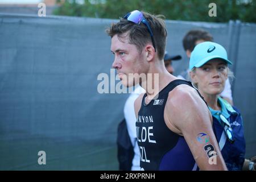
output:
M 164 113 L 167 126 L 184 136 L 201 170 L 227 170 L 213 133 L 212 116 L 195 89 L 177 86 L 169 94 Z

